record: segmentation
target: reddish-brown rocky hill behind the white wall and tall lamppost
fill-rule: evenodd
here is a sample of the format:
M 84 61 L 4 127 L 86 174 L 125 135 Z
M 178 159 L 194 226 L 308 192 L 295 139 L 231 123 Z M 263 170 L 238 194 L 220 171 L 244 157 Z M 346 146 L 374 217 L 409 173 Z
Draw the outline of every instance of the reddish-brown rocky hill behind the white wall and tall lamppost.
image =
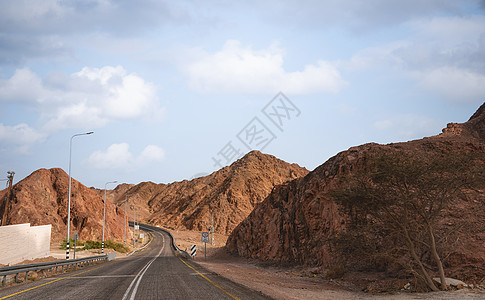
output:
M 103 229 L 103 197 L 72 179 L 71 236 L 101 240 Z M 31 225 L 52 224 L 52 238 L 60 241 L 67 236 L 69 176 L 58 168 L 40 169 L 12 188 L 7 223 Z M 7 190 L 0 191 L 0 199 Z M 3 215 L 3 202 L 0 212 Z M 124 211 L 111 202 L 106 203 L 105 239 L 123 239 Z

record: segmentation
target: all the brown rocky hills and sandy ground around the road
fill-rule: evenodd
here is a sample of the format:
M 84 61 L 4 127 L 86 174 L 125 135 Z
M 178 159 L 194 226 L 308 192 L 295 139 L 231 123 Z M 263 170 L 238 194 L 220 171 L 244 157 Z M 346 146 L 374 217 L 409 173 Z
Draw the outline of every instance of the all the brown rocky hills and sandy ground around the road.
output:
M 122 242 L 125 217 L 136 217 L 170 230 L 182 250 L 198 245 L 201 266 L 277 299 L 483 298 L 484 157 L 485 104 L 436 136 L 352 147 L 313 171 L 251 151 L 205 177 L 106 191 L 107 239 Z M 62 241 L 67 182 L 63 170 L 41 169 L 15 184 L 8 223 L 52 224 Z M 104 193 L 73 180 L 81 239 L 99 240 Z M 214 231 L 213 245 L 202 231 Z M 426 276 L 442 269 L 465 284 L 419 293 L 438 289 Z

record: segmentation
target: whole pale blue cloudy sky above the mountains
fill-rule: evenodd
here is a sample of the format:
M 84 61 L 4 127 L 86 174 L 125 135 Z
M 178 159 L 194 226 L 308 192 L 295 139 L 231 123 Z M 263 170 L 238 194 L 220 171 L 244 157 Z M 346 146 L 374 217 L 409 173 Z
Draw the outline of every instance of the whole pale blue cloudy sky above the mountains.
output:
M 169 183 L 250 149 L 310 170 L 485 100 L 485 1 L 0 0 L 0 177 Z

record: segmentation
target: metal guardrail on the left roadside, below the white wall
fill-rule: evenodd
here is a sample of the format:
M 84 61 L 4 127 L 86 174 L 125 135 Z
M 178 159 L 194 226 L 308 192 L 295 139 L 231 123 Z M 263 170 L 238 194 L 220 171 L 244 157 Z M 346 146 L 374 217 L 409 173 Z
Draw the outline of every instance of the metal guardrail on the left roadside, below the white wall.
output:
M 69 260 L 56 260 L 51 262 L 43 262 L 37 264 L 26 264 L 26 265 L 18 265 L 18 266 L 9 266 L 0 268 L 0 277 L 2 279 L 2 286 L 5 286 L 7 282 L 7 275 L 15 274 L 15 282 L 18 282 L 18 277 L 20 273 L 25 273 L 25 280 L 27 280 L 29 276 L 29 272 L 35 271 L 42 271 L 43 273 L 45 270 L 54 269 L 56 272 L 58 268 L 61 268 L 61 271 L 64 272 L 64 268 L 68 269 L 69 267 L 76 266 L 76 267 L 84 267 L 85 265 L 89 265 L 98 261 L 108 260 L 108 255 L 97 255 L 97 256 L 90 256 L 84 258 L 77 258 L 77 259 L 69 259 Z

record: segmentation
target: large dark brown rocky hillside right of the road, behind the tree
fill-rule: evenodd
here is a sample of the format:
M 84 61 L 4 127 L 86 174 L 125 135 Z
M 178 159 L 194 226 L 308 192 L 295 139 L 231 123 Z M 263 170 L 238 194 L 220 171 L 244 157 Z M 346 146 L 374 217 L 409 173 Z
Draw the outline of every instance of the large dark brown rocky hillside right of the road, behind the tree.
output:
M 466 123 L 450 123 L 440 135 L 405 143 L 352 147 L 305 177 L 276 186 L 233 230 L 226 248 L 240 256 L 277 263 L 326 268 L 358 265 L 362 257 L 342 252 L 335 246 L 335 240 L 349 231 L 351 216 L 331 193 L 345 187 L 345 178 L 349 174 L 366 172 L 383 152 L 407 154 L 417 159 L 443 153 L 459 156 L 485 154 L 485 104 Z M 483 165 L 484 161 L 480 163 Z M 449 248 L 444 261 L 447 268 L 481 266 L 475 270 L 481 270 L 485 275 L 485 197 L 481 187 L 476 189 L 470 197 L 453 200 L 452 208 L 443 213 L 437 232 L 451 228 L 446 232 L 458 236 L 456 239 L 448 236 L 446 242 L 439 241 Z M 385 241 L 386 236 L 381 232 L 374 238 L 377 244 Z M 392 244 L 393 241 L 386 243 Z M 364 245 L 357 244 L 359 247 L 365 249 Z M 383 254 L 382 257 L 386 256 Z

